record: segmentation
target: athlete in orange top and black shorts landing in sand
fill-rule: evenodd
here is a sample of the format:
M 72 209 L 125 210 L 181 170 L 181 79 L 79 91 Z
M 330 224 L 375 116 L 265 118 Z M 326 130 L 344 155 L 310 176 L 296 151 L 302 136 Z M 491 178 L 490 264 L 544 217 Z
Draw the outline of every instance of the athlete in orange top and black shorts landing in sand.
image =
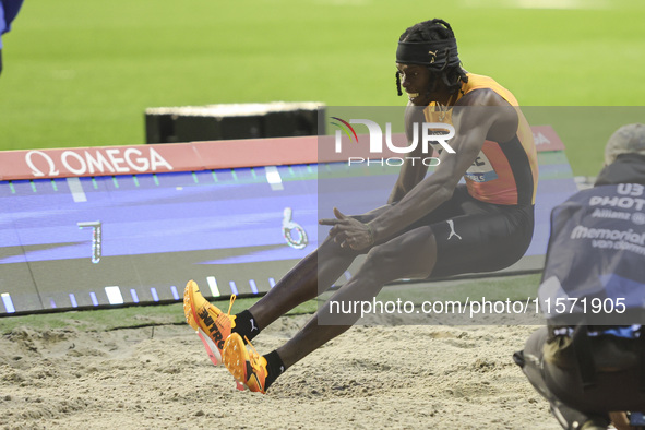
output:
M 331 300 L 371 300 L 385 283 L 399 278 L 443 277 L 490 272 L 522 258 L 533 236 L 537 155 L 533 134 L 515 97 L 490 77 L 461 67 L 451 26 L 442 20 L 405 31 L 396 50 L 396 84 L 408 96 L 405 123 L 444 121 L 456 134 L 455 154 L 427 166 L 401 169 L 389 204 L 361 216 L 334 210 L 336 219 L 318 250 L 300 261 L 248 310 L 236 315 L 208 303 L 189 282 L 184 311 L 200 333 L 213 362 L 220 357 L 239 384 L 264 393 L 286 369 L 348 330 L 358 314 L 334 315 L 321 325 L 329 302 L 291 339 L 260 356 L 250 341 L 273 321 L 315 298 L 367 253 L 365 263 Z M 486 109 L 477 108 L 486 107 Z M 422 156 L 421 145 L 409 154 Z M 462 177 L 465 184 L 457 184 Z M 231 300 L 232 303 L 232 300 Z

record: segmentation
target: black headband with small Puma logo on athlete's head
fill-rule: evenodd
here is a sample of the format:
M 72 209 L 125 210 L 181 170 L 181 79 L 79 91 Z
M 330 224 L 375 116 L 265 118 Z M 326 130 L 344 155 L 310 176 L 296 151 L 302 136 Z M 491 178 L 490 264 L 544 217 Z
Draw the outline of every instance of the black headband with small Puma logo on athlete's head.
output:
M 422 64 L 441 71 L 446 67 L 459 64 L 457 40 L 399 41 L 396 62 L 401 64 Z

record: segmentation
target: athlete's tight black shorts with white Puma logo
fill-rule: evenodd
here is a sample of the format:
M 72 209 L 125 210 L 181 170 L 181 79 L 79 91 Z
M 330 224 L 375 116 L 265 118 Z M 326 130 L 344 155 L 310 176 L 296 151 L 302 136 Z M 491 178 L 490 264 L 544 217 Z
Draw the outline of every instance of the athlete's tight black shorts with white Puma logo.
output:
M 465 184 L 406 231 L 430 226 L 437 240 L 437 264 L 430 278 L 493 272 L 517 262 L 533 238 L 533 205 L 485 203 Z

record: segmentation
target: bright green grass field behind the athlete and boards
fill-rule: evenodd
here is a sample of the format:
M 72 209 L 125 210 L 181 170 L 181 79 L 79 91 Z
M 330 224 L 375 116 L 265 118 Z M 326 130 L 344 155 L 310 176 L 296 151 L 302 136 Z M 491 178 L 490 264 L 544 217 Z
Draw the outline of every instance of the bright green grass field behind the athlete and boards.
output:
M 645 98 L 641 0 L 29 0 L 3 37 L 0 150 L 141 144 L 146 107 L 401 105 L 396 40 L 435 16 L 525 106 Z M 600 167 L 592 138 L 565 141 L 576 175 Z

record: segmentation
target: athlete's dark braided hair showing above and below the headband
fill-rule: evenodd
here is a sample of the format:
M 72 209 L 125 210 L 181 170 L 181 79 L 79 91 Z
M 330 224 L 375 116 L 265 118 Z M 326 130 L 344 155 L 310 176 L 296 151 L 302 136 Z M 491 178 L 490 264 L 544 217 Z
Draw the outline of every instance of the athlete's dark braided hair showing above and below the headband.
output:
M 455 34 L 449 23 L 443 20 L 434 19 L 423 21 L 407 28 L 401 35 L 398 41 L 445 40 L 454 37 Z M 443 52 L 445 57 L 449 57 L 449 50 L 450 48 L 445 48 Z M 455 58 L 456 61 L 446 61 L 441 70 L 433 68 L 428 68 L 428 70 L 431 74 L 439 75 L 447 89 L 455 93 L 461 88 L 462 82 L 468 82 L 468 76 L 466 76 L 466 71 L 462 69 L 458 58 L 456 56 L 453 58 Z M 398 71 L 396 72 L 396 91 L 399 96 L 403 95 L 403 92 L 401 91 L 401 74 Z

